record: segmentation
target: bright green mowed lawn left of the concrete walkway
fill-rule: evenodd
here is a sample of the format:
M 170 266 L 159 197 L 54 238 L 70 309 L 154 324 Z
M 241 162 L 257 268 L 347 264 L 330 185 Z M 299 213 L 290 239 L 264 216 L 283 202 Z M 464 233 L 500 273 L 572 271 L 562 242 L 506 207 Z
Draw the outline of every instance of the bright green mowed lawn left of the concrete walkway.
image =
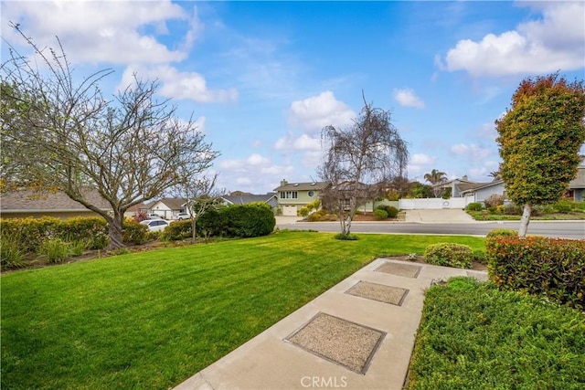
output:
M 5 274 L 3 389 L 178 385 L 380 256 L 481 237 L 282 232 Z

